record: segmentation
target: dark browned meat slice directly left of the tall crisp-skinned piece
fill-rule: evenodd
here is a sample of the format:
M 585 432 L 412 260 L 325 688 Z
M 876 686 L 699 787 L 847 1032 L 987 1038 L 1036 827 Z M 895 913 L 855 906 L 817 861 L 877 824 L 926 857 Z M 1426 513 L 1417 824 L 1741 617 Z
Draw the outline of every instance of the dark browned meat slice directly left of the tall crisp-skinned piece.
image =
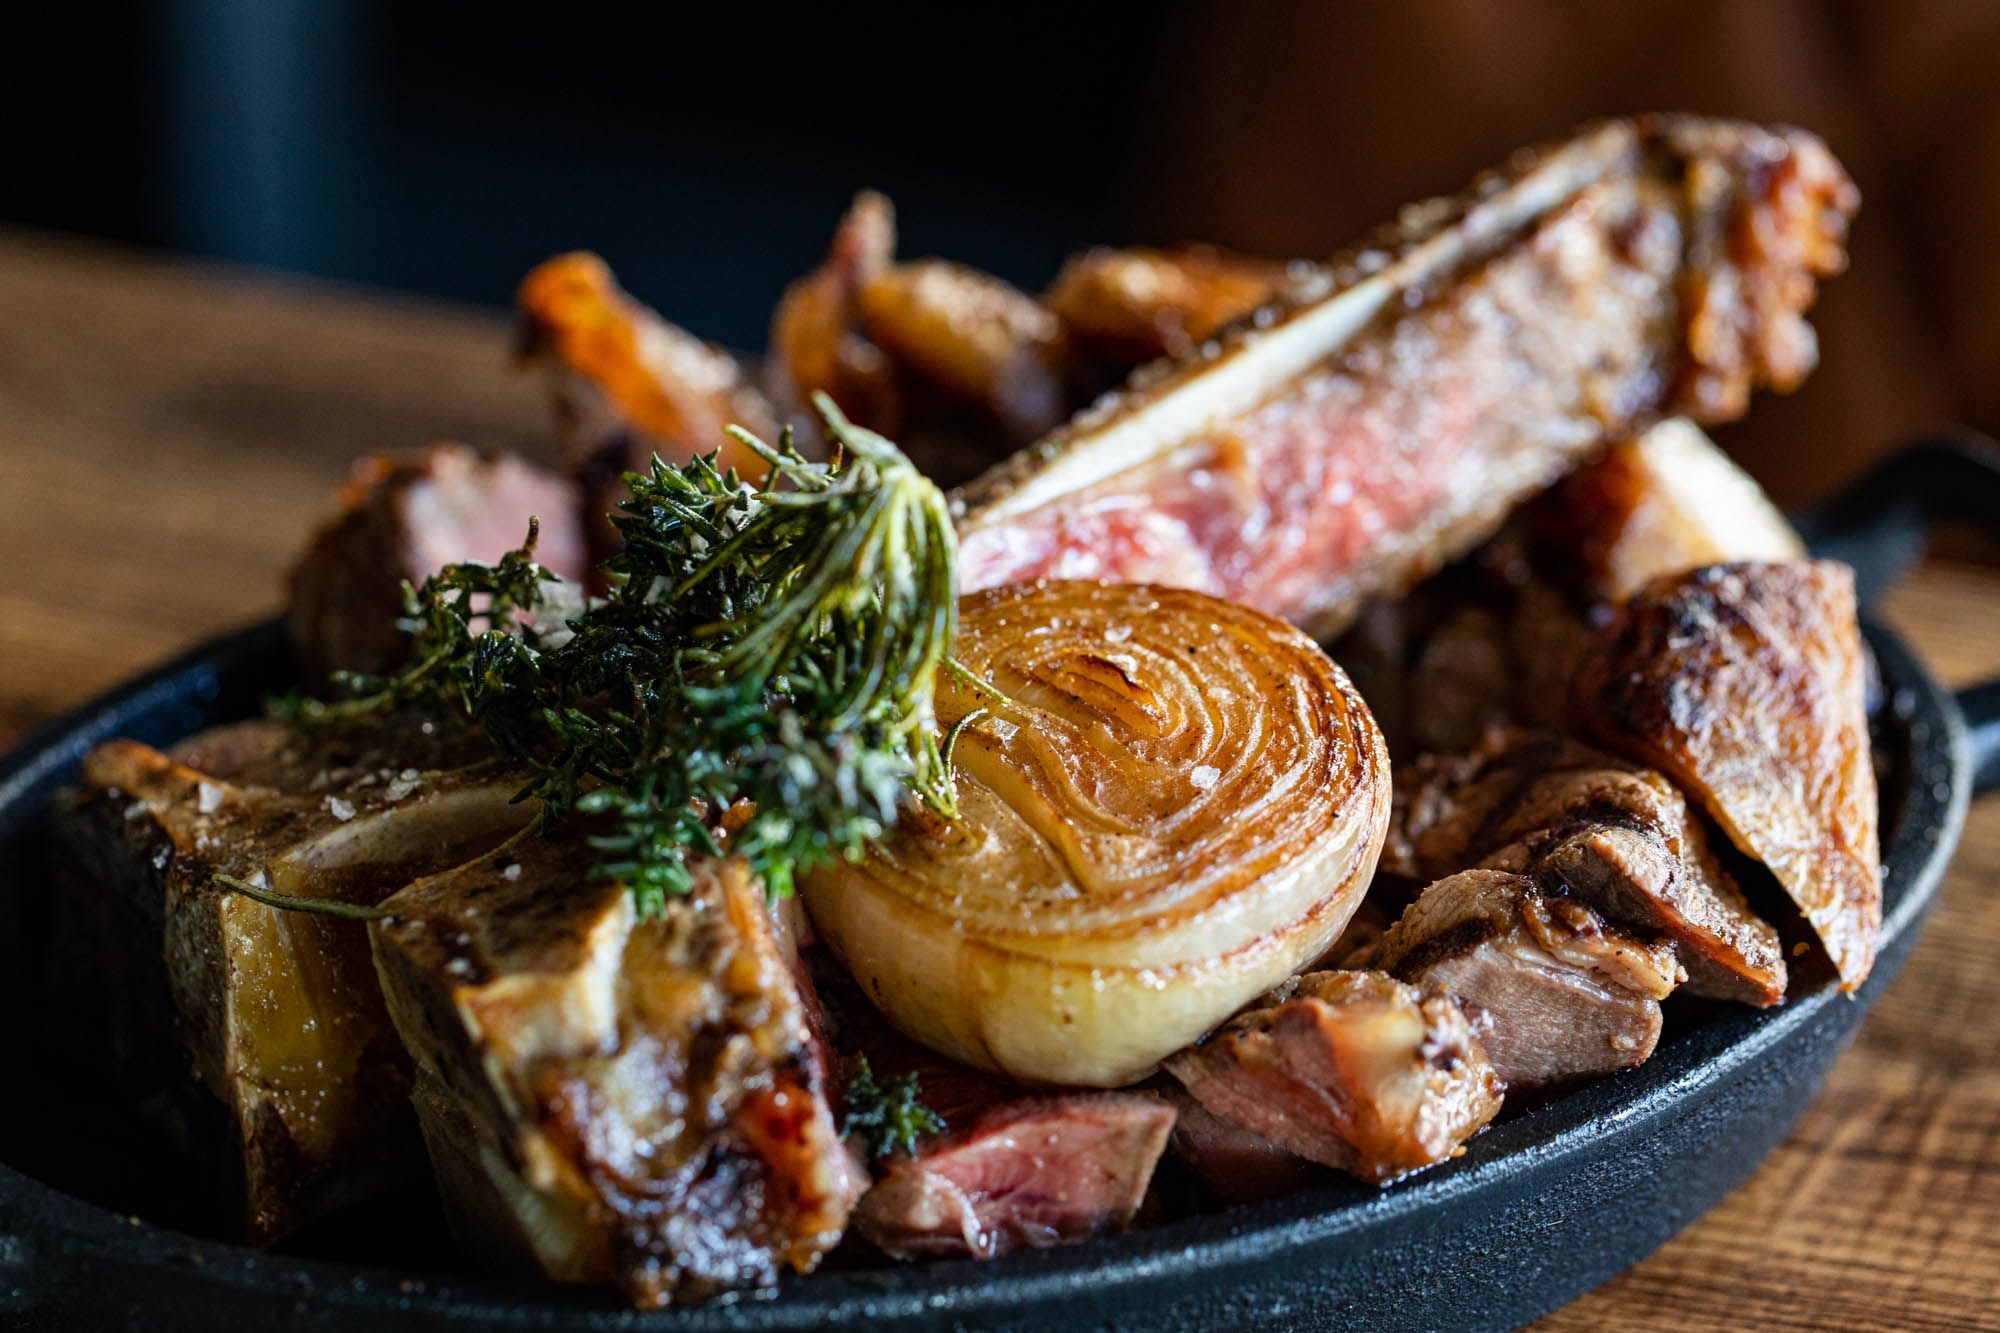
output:
M 1412 881 L 1466 867 L 1534 875 L 1672 941 L 1696 995 L 1784 999 L 1778 933 L 1750 911 L 1680 791 L 1576 741 L 1494 733 L 1470 755 L 1406 767 L 1384 861 Z

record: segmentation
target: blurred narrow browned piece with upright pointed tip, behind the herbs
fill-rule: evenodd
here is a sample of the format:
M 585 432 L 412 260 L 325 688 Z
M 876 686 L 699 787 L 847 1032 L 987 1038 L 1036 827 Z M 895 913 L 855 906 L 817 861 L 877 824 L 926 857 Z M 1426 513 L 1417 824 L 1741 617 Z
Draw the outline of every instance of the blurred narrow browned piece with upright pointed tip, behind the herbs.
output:
M 770 386 L 804 428 L 824 392 L 870 430 L 894 434 L 902 402 L 894 366 L 856 330 L 856 298 L 896 258 L 896 210 L 874 190 L 854 196 L 826 260 L 784 290 L 770 322 Z

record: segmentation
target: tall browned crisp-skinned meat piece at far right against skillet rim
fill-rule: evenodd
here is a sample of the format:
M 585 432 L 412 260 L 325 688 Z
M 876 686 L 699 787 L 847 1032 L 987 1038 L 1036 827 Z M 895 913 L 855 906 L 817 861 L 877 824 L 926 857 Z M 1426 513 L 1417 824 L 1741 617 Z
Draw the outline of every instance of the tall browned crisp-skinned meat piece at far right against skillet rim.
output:
M 1798 903 L 1852 991 L 1882 929 L 1854 574 L 1712 564 L 1640 588 L 1592 640 L 1582 727 L 1692 793 Z

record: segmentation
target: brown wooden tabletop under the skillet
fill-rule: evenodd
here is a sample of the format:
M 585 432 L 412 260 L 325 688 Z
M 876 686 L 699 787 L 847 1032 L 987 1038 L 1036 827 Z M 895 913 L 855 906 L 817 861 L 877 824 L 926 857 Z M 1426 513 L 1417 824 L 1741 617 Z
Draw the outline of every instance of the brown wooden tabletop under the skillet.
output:
M 348 460 L 546 436 L 490 312 L 0 232 L 0 747 L 276 608 Z M 2000 572 L 1932 562 L 1888 618 L 1948 683 L 2000 675 Z M 1714 1325 L 2000 1329 L 2000 797 L 1790 1141 L 1548 1319 Z

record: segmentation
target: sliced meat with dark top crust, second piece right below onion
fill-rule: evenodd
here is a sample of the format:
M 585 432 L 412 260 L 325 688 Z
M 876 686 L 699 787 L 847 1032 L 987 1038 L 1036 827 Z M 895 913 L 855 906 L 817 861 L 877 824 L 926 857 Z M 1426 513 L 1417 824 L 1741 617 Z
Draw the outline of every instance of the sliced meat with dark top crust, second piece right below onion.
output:
M 1508 1093 L 1644 1063 L 1678 985 L 1668 943 L 1646 943 L 1524 875 L 1460 871 L 1424 889 L 1382 937 L 1376 967 L 1482 1009 L 1480 1045 Z

